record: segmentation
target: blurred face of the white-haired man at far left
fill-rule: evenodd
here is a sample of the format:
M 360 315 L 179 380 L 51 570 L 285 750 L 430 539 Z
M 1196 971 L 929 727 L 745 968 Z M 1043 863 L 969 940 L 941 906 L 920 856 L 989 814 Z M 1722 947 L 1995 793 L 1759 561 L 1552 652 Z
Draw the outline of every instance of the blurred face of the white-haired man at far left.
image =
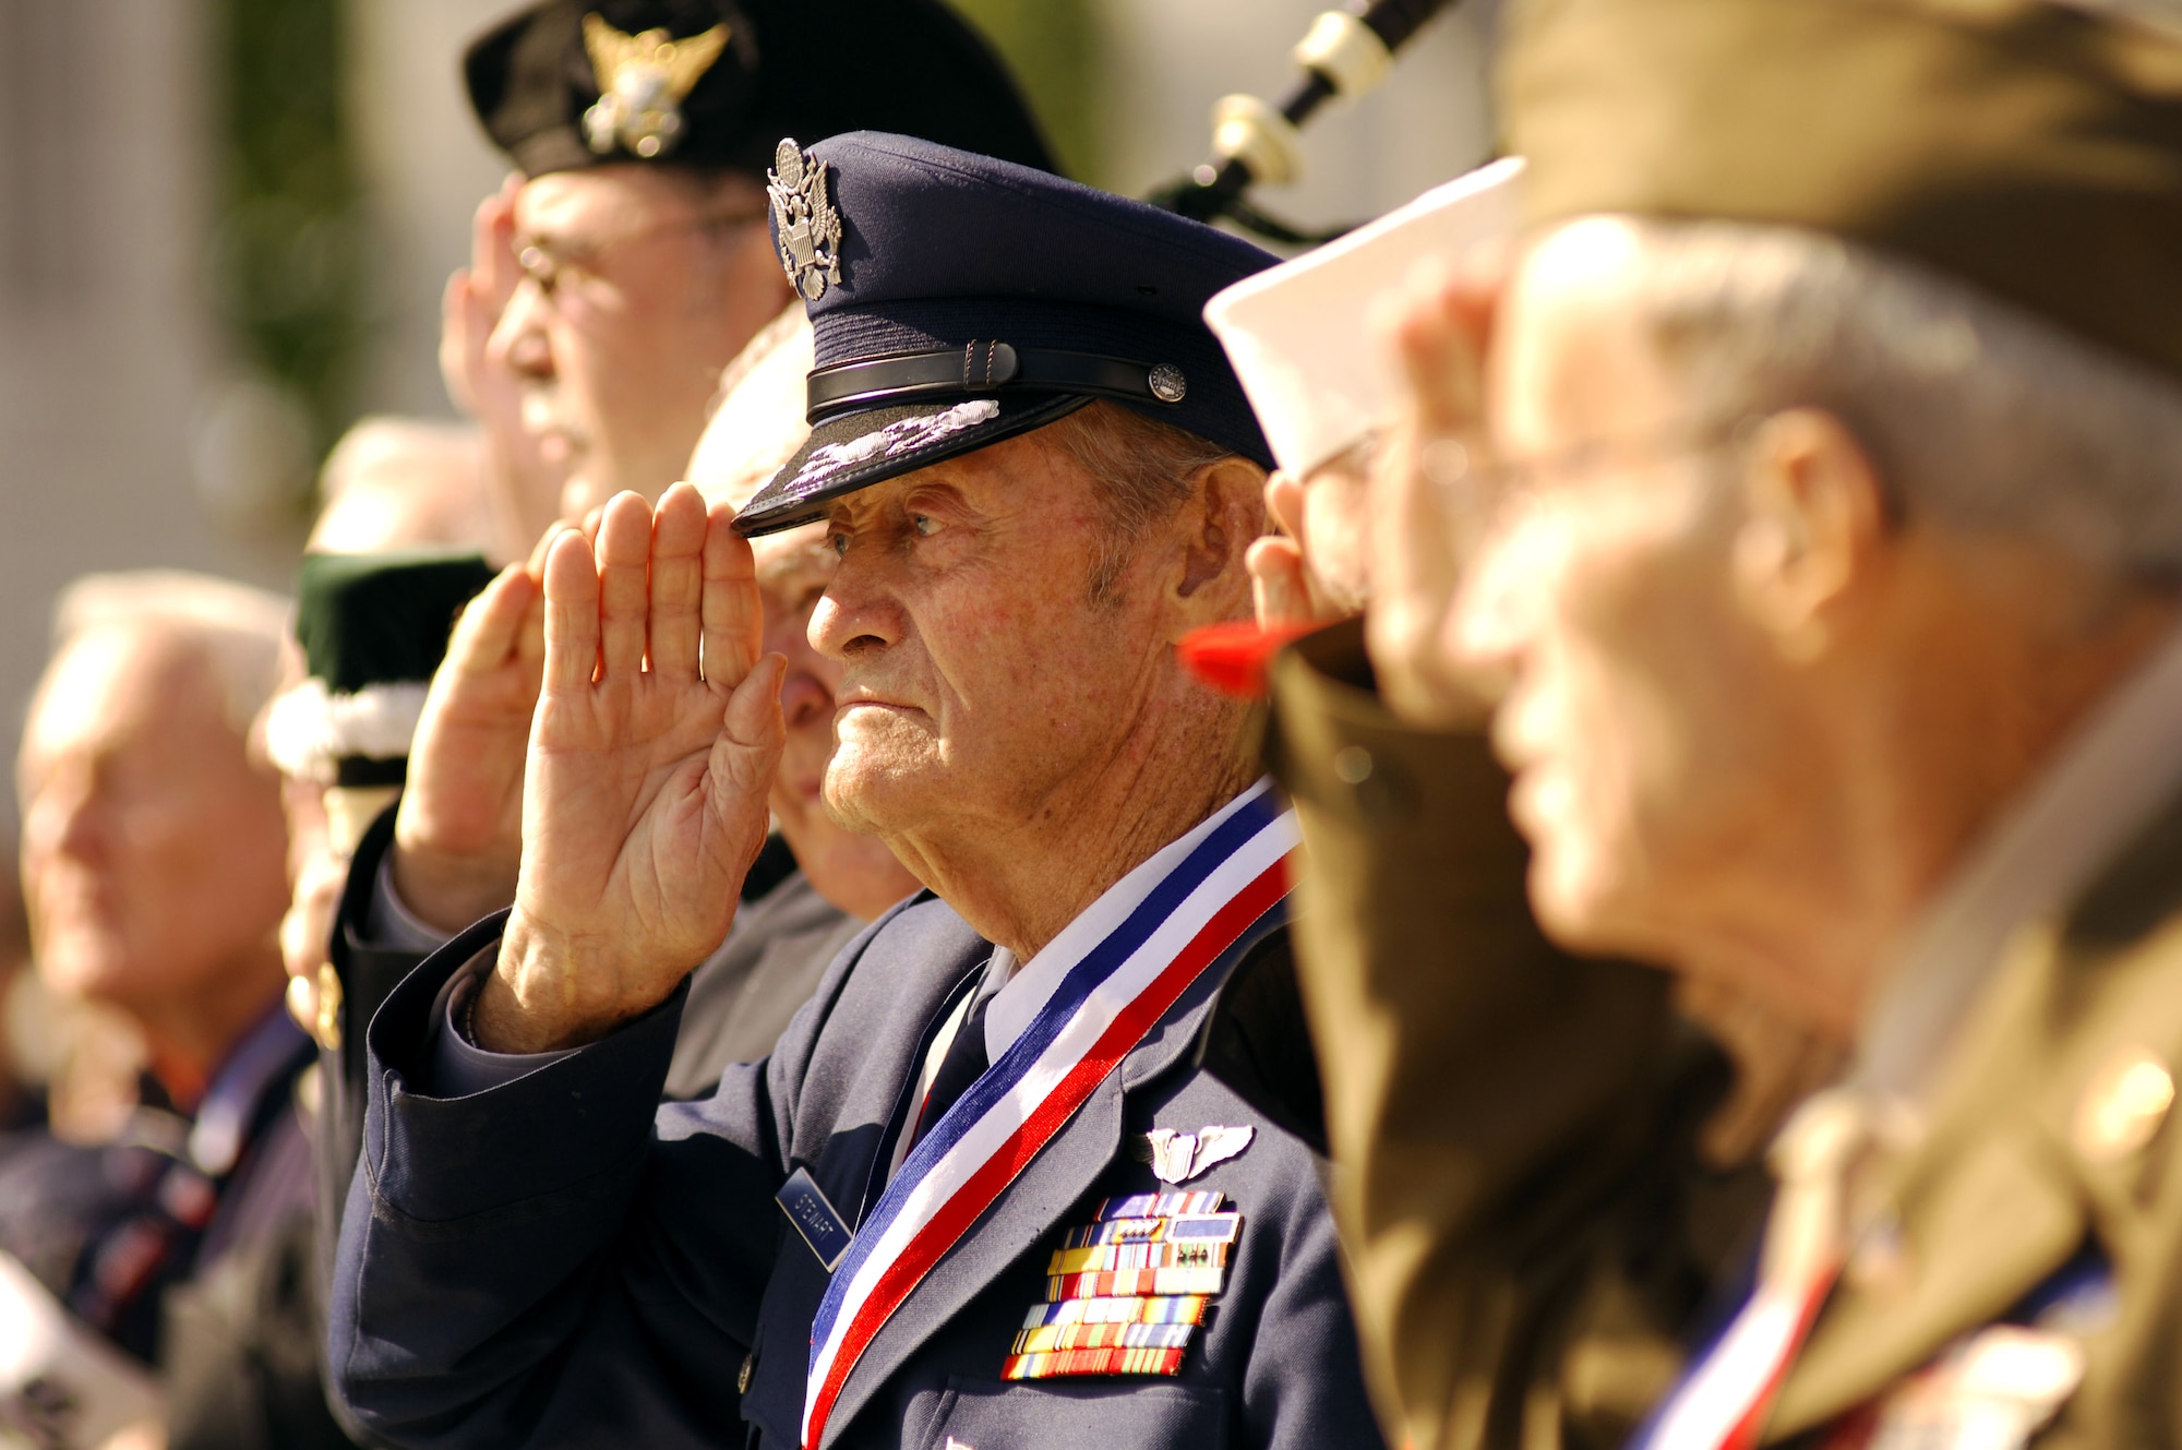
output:
M 61 994 L 157 1024 L 279 989 L 288 904 L 279 784 L 253 769 L 205 655 L 96 629 L 52 662 L 20 762 L 22 878 L 37 965 Z

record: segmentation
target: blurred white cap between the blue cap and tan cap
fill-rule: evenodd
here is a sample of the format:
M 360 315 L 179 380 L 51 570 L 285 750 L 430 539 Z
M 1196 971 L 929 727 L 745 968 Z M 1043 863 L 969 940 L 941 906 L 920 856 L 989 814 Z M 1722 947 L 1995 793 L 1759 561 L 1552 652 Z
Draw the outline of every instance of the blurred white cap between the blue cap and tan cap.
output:
M 1372 297 L 1431 253 L 1510 238 L 1523 159 L 1506 157 L 1204 304 L 1279 465 L 1296 476 L 1362 443 L 1394 408 L 1366 325 Z

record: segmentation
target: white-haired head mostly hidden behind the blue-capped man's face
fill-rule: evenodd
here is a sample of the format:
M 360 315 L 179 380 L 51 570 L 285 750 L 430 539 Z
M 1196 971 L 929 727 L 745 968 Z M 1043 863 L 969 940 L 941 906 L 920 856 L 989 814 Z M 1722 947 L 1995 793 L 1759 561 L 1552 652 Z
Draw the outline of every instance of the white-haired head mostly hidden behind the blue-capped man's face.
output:
M 803 448 L 810 437 L 803 421 L 810 365 L 812 328 L 801 304 L 768 323 L 729 365 L 711 421 L 690 459 L 690 483 L 705 494 L 705 502 L 740 509 Z M 919 882 L 884 843 L 842 830 L 825 808 L 840 662 L 812 646 L 810 622 L 838 557 L 823 522 L 751 539 L 751 552 L 766 603 L 766 651 L 788 657 L 781 679 L 788 745 L 772 782 L 772 819 L 812 889 L 868 922 L 916 891 Z

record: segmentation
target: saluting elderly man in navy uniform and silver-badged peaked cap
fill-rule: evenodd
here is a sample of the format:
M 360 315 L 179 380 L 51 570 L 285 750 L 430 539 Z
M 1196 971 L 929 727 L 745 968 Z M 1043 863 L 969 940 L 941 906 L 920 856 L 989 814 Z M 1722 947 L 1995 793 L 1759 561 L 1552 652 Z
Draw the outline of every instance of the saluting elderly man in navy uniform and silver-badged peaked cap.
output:
M 676 487 L 550 550 L 515 908 L 371 1026 L 340 1389 L 417 1446 L 718 1443 L 738 1389 L 768 1446 L 1375 1446 L 1316 1090 L 1228 1005 L 1281 998 L 1294 825 L 1172 649 L 1248 609 L 1198 308 L 1268 258 L 875 133 L 783 142 L 772 205 L 812 439 L 733 524 Z M 781 749 L 735 528 L 810 518 L 827 804 L 930 891 L 661 1107 Z

